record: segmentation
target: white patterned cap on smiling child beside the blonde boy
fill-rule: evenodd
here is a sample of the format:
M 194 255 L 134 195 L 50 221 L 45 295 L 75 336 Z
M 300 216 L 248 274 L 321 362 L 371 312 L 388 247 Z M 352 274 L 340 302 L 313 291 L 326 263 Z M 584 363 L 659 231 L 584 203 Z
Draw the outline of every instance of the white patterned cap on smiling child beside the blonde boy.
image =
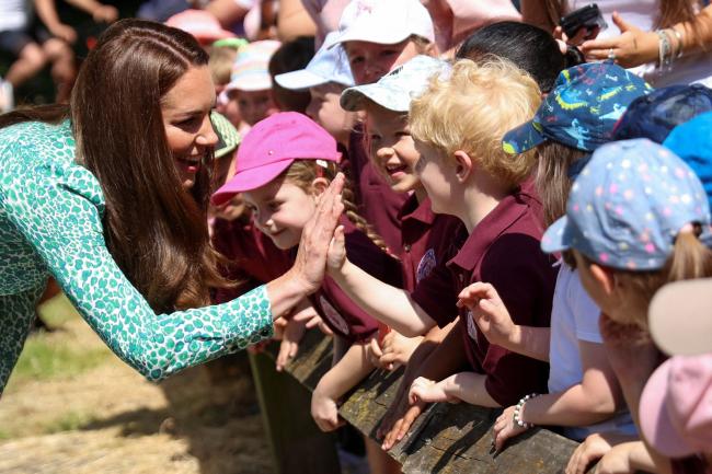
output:
M 405 113 L 411 101 L 427 89 L 432 77 L 448 74 L 450 63 L 429 56 L 416 56 L 393 69 L 372 84 L 348 88 L 341 94 L 341 106 L 345 111 L 360 111 L 370 100 L 381 107 Z

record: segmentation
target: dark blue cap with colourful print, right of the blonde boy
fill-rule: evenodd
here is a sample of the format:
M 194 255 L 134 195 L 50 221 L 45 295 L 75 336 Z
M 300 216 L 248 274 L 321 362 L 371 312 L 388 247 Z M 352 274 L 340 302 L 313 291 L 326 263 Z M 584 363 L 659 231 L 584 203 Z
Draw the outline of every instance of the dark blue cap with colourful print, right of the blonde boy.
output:
M 564 69 L 535 117 L 509 130 L 502 147 L 509 154 L 553 140 L 594 151 L 612 140 L 613 126 L 628 105 L 653 90 L 644 80 L 611 61 Z

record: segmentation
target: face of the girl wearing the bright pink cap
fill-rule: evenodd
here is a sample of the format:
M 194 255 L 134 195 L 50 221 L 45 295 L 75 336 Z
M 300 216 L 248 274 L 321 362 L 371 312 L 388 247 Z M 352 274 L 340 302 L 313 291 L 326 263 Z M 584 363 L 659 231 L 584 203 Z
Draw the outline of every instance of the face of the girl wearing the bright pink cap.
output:
M 282 250 L 299 244 L 301 231 L 317 209 L 314 196 L 285 180 L 242 193 L 257 228 Z

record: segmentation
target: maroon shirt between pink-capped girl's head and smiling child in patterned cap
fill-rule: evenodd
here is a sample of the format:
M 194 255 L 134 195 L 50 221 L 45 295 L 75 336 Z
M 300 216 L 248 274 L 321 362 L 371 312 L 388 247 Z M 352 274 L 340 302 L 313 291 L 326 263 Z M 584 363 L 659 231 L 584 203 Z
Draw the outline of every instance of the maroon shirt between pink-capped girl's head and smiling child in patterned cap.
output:
M 398 212 L 407 196 L 395 193 L 378 174 L 364 148 L 364 134 L 360 128 L 348 138 L 348 157 L 343 170 L 354 183 L 356 205 L 360 215 L 380 236 L 394 255 L 401 252 L 401 228 Z

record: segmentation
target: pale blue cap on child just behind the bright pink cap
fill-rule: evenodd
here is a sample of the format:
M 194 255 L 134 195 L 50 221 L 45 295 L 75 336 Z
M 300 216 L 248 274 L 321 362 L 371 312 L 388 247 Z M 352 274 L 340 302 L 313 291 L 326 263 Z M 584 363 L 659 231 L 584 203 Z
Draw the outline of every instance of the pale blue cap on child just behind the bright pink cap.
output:
M 336 82 L 345 86 L 354 85 L 354 77 L 351 73 L 351 66 L 348 66 L 344 48 L 341 46 L 329 48 L 336 36 L 338 36 L 336 32 L 326 35 L 324 44 L 305 69 L 275 76 L 277 84 L 292 91 L 315 88 L 329 82 Z

